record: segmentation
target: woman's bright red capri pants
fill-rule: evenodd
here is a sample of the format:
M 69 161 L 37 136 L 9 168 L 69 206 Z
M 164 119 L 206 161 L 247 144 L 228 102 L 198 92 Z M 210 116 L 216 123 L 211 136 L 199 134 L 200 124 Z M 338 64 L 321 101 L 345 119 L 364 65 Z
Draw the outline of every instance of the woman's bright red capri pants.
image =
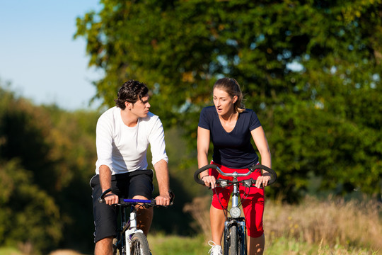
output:
M 212 164 L 219 166 L 221 171 L 224 171 L 225 173 L 233 173 L 234 171 L 236 171 L 239 174 L 243 174 L 248 172 L 248 169 L 230 169 L 226 166 L 221 166 L 214 162 L 212 162 Z M 222 176 L 215 169 L 209 169 L 209 175 L 214 176 L 216 180 L 218 178 L 226 180 L 233 179 L 233 177 Z M 257 179 L 258 176 L 261 176 L 260 169 L 256 169 L 249 176 L 238 177 L 238 181 L 250 178 Z M 240 186 L 239 189 L 248 235 L 250 237 L 261 237 L 264 233 L 264 229 L 262 229 L 262 215 L 264 212 L 264 190 L 262 188 L 256 187 L 245 188 L 244 186 Z M 224 210 L 225 208 L 227 208 L 232 191 L 233 186 L 229 186 L 226 188 L 214 188 L 214 195 L 212 196 L 212 206 L 219 210 Z

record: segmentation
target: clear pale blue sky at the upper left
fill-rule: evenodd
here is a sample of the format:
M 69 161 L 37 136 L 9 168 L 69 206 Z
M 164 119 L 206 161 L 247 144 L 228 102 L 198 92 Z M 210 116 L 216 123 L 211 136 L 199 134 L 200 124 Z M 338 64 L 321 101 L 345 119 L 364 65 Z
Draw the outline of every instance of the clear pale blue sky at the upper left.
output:
M 91 81 L 86 41 L 73 39 L 76 17 L 99 10 L 99 0 L 0 0 L 0 79 L 35 104 L 73 111 L 89 106 Z

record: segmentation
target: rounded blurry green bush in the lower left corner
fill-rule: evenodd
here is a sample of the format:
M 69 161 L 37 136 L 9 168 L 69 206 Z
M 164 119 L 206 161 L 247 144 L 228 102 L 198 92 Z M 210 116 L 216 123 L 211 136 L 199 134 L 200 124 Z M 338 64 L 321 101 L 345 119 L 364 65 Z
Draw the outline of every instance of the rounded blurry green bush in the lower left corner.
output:
M 33 244 L 35 251 L 57 245 L 62 222 L 57 204 L 17 160 L 0 166 L 0 244 Z M 48 242 L 49 241 L 49 242 Z

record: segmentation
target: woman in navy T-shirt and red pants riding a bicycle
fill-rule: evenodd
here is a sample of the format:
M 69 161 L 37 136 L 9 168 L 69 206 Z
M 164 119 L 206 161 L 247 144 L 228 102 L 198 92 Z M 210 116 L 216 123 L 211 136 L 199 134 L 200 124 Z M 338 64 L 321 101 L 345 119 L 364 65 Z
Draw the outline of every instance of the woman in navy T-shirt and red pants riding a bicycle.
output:
M 255 145 L 261 155 L 261 164 L 271 167 L 271 155 L 265 132 L 255 112 L 243 106 L 243 94 L 235 79 L 223 78 L 216 81 L 213 90 L 214 106 L 202 109 L 197 128 L 197 161 L 199 168 L 209 164 L 209 142 L 214 145 L 214 155 L 211 164 L 216 164 L 222 171 L 233 173 L 246 173 L 250 166 L 259 164 L 255 149 L 250 143 L 253 137 Z M 255 171 L 245 177 L 257 179 L 255 187 L 241 187 L 243 212 L 248 229 L 248 254 L 262 254 L 265 245 L 264 231 L 262 229 L 262 214 L 264 211 L 264 190 L 270 174 Z M 212 229 L 212 242 L 210 253 L 222 254 L 221 237 L 224 232 L 224 210 L 227 208 L 229 196 L 232 191 L 227 188 L 215 188 L 216 179 L 229 179 L 221 176 L 215 169 L 209 169 L 200 178 L 206 186 L 213 188 L 210 220 Z M 243 177 L 241 178 L 243 179 Z M 240 178 L 238 180 L 241 180 Z M 219 198 L 218 198 L 219 196 Z M 219 201 L 220 200 L 220 201 Z M 223 207 L 223 208 L 222 208 Z M 213 245 L 212 245 L 212 244 Z

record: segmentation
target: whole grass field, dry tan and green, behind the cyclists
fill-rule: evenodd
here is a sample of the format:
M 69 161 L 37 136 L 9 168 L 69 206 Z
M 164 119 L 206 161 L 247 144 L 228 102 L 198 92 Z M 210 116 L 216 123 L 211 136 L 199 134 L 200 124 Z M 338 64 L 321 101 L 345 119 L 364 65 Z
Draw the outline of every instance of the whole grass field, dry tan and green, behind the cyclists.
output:
M 208 198 L 188 205 L 195 216 L 195 237 L 149 234 L 153 255 L 208 254 Z M 299 205 L 268 201 L 265 205 L 265 255 L 382 255 L 381 203 L 372 200 L 325 201 L 307 197 Z M 207 227 L 206 227 L 207 226 Z M 197 233 L 197 231 L 195 231 Z M 50 255 L 79 255 L 54 251 Z M 18 249 L 0 248 L 0 255 L 26 255 Z

